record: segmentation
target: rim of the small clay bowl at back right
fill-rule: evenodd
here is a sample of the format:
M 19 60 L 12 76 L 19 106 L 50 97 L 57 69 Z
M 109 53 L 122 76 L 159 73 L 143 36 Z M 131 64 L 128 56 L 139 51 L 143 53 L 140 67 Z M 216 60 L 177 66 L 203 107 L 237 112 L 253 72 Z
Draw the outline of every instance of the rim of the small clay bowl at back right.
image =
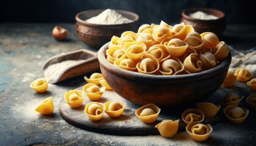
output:
M 197 11 L 202 11 L 202 12 L 215 12 L 215 13 L 219 13 L 221 16 L 218 17 L 217 19 L 197 19 L 197 18 L 193 18 L 191 16 L 188 15 L 188 13 L 192 13 L 192 12 L 197 12 Z M 210 8 L 206 8 L 206 7 L 192 7 L 192 8 L 188 8 L 185 10 L 182 10 L 182 17 L 191 21 L 201 21 L 201 22 L 215 22 L 215 21 L 219 21 L 222 19 L 226 18 L 226 15 L 224 12 L 222 12 L 221 10 L 217 10 L 217 9 L 210 9 Z

